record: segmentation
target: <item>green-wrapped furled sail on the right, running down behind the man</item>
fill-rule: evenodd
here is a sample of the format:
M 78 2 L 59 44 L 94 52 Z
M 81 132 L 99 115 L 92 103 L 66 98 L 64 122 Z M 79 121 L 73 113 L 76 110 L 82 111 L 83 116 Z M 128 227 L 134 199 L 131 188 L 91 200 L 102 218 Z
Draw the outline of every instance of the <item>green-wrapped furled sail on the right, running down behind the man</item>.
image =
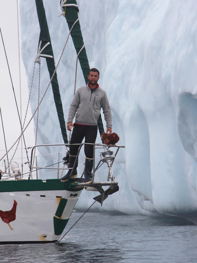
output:
M 63 10 L 64 10 L 64 15 L 65 15 L 65 18 L 66 18 L 66 21 L 68 23 L 68 27 L 70 30 L 74 22 L 78 19 L 79 8 L 78 8 L 76 0 L 67 0 L 66 6 L 65 4 L 63 5 Z M 73 43 L 74 43 L 76 52 L 78 54 L 84 45 L 79 21 L 74 25 L 73 30 L 71 31 L 71 36 L 73 39 Z M 85 47 L 81 50 L 79 54 L 79 62 L 80 62 L 81 69 L 84 75 L 85 83 L 87 85 L 87 82 L 88 82 L 87 74 L 88 74 L 88 71 L 90 70 L 90 66 L 88 63 Z M 104 132 L 101 114 L 98 119 L 98 129 L 99 129 L 100 134 Z

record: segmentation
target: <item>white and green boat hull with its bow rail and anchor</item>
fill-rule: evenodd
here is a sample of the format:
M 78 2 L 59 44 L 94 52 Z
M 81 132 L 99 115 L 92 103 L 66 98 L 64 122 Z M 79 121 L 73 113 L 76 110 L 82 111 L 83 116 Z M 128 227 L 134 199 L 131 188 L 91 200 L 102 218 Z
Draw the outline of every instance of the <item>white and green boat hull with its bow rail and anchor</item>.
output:
M 105 145 L 95 145 L 98 145 L 99 149 L 100 146 L 106 148 Z M 116 147 L 119 149 L 123 146 Z M 104 153 L 107 157 L 102 161 L 110 162 L 108 163 L 110 174 L 108 181 L 93 181 L 88 185 L 88 190 L 96 189 L 100 192 L 94 199 L 101 205 L 108 195 L 119 189 L 118 182 L 114 181 L 111 170 L 110 158 L 113 152 L 105 151 Z M 30 164 L 30 175 L 32 169 L 44 168 L 32 167 Z M 59 167 L 47 167 L 47 169 L 59 169 Z M 95 166 L 93 167 L 93 180 L 94 173 Z M 18 174 L 15 173 L 17 180 L 10 177 L 0 181 L 0 243 L 59 241 L 82 189 L 87 188 L 84 178 L 70 178 L 66 182 L 61 182 L 60 179 L 30 179 L 30 175 L 29 180 L 24 180 L 23 178 L 19 179 Z M 104 191 L 102 186 L 110 187 Z

